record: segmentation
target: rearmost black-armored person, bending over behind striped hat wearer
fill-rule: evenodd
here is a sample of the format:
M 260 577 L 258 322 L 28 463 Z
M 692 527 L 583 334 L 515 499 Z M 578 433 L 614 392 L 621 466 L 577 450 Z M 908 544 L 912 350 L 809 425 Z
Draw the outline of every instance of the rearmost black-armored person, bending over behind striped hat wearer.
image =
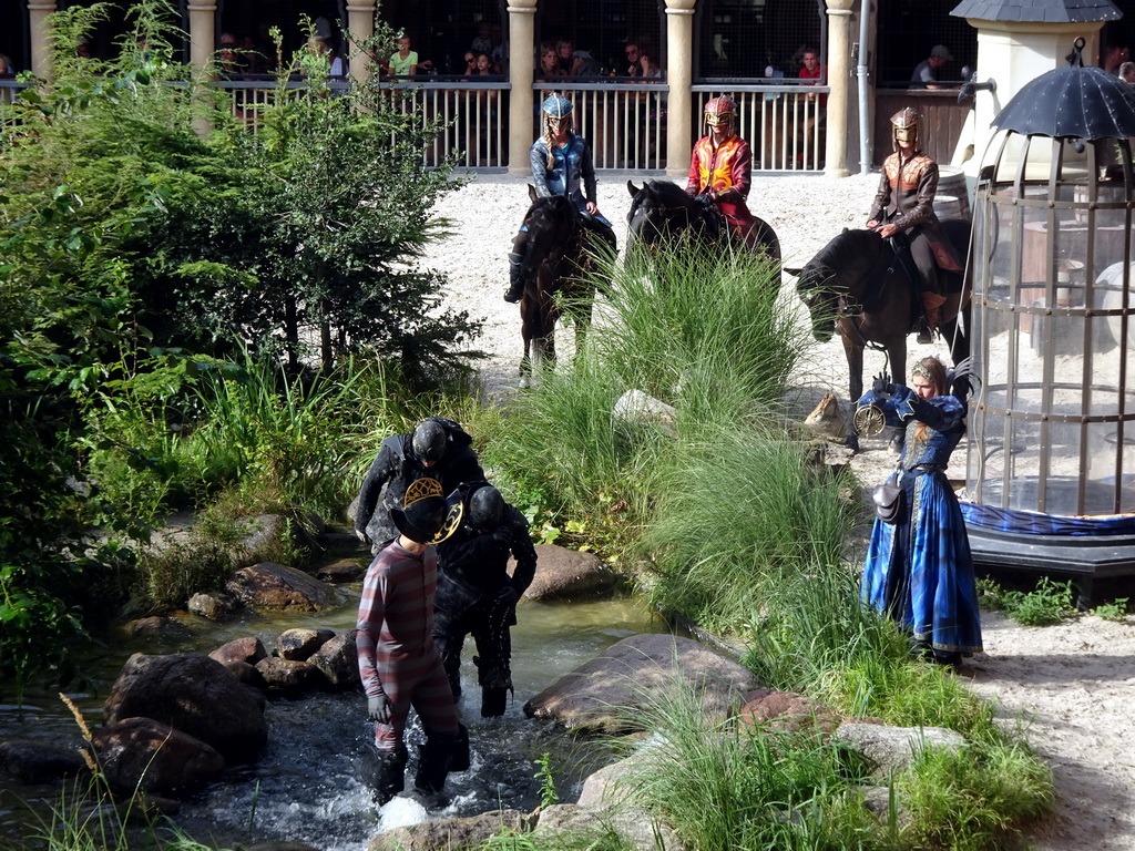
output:
M 468 482 L 485 481 L 472 441 L 457 422 L 445 416 L 430 416 L 413 433 L 382 440 L 359 491 L 354 519 L 359 540 L 370 539 L 377 555 L 397 534 L 390 508 L 402 508 L 406 488 L 419 479 L 438 480 L 444 494 Z

